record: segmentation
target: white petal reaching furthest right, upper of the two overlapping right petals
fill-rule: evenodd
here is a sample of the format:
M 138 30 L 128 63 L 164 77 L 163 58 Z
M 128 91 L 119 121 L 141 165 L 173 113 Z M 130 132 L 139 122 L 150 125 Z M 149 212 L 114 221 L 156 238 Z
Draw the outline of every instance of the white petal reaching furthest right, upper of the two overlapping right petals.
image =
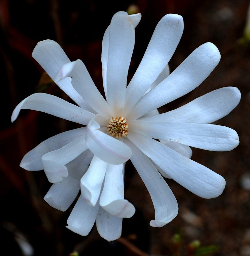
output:
M 223 87 L 180 108 L 142 120 L 210 124 L 228 115 L 239 104 L 240 98 L 240 91 L 236 87 Z

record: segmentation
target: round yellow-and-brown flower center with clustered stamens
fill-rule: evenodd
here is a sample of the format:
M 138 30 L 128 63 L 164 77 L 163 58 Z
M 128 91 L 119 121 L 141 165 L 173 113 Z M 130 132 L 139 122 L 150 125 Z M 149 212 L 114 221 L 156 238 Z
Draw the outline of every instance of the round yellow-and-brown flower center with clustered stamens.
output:
M 126 122 L 127 120 L 123 116 L 111 117 L 107 125 L 107 132 L 115 138 L 125 138 L 129 132 L 127 130 L 129 125 Z

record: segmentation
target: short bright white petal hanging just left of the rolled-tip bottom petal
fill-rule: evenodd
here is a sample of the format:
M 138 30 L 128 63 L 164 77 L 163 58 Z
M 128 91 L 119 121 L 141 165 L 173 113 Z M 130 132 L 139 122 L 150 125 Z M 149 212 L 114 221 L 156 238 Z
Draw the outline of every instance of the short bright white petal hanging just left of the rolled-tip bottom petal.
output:
M 81 179 L 81 193 L 84 200 L 95 206 L 100 196 L 107 163 L 94 156 L 87 172 Z

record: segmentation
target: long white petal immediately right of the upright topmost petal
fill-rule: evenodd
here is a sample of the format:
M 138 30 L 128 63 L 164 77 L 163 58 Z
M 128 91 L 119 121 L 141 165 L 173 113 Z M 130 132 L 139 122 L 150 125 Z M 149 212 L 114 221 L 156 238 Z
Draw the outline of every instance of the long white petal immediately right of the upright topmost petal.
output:
M 159 21 L 143 59 L 128 85 L 124 116 L 128 116 L 136 102 L 166 67 L 180 42 L 182 32 L 183 19 L 180 15 L 167 14 Z

